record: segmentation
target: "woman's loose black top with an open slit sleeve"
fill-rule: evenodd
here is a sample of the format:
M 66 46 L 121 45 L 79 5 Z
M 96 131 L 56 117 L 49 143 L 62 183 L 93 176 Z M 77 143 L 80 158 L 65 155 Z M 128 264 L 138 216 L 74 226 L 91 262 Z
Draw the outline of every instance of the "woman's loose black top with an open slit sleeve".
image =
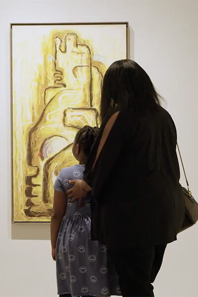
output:
M 109 118 L 119 114 L 95 164 Z M 176 240 L 184 218 L 177 134 L 161 106 L 139 115 L 118 106 L 101 123 L 84 172 L 92 186 L 92 239 L 109 248 Z

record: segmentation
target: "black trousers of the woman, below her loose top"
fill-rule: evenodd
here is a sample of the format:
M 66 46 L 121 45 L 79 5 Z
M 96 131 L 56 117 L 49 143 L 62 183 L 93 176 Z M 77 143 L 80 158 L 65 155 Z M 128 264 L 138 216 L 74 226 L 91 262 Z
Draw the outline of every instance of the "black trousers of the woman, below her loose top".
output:
M 153 286 L 166 245 L 109 250 L 123 297 L 153 297 Z

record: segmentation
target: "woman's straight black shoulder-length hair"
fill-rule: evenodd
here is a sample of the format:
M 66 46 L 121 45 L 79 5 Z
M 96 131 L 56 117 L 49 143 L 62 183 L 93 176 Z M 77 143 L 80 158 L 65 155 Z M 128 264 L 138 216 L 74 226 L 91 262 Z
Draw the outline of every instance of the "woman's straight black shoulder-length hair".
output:
M 155 110 L 160 98 L 140 65 L 129 59 L 115 61 L 103 78 L 100 117 L 103 119 L 117 104 L 136 112 Z

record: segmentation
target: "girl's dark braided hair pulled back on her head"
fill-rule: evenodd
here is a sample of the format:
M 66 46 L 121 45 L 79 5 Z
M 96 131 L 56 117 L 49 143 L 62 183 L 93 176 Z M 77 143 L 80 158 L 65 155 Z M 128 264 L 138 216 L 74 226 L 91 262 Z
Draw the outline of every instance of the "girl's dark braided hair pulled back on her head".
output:
M 99 134 L 98 127 L 85 126 L 81 128 L 75 137 L 75 142 L 80 146 L 84 153 L 89 156 L 92 145 Z

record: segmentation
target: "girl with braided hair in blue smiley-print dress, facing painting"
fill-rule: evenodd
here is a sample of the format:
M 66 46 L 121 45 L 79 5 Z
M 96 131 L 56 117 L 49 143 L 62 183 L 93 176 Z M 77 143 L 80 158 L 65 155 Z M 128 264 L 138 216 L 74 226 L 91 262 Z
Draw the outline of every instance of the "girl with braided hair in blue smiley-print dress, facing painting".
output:
M 80 207 L 79 201 L 72 203 L 66 196 L 66 191 L 72 188 L 69 181 L 83 177 L 84 164 L 87 162 L 98 131 L 97 127 L 89 126 L 78 131 L 72 152 L 79 164 L 62 169 L 53 187 L 51 248 L 52 258 L 56 261 L 57 287 L 60 296 L 121 294 L 118 277 L 107 259 L 106 247 L 98 241 L 90 240 L 90 198 L 86 197 L 84 205 Z

